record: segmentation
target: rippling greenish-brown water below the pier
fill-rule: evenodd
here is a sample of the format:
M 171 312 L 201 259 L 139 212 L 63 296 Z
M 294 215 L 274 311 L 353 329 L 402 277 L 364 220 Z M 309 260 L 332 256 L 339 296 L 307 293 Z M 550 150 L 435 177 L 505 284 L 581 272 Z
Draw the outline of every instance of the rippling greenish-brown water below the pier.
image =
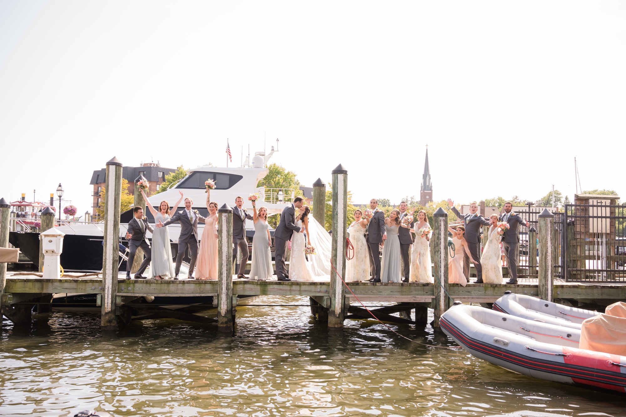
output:
M 259 297 L 254 304 L 308 304 Z M 431 312 L 432 314 L 432 312 Z M 309 307 L 237 307 L 217 327 L 135 321 L 100 335 L 98 314 L 5 321 L 1 416 L 624 416 L 623 397 L 511 373 L 461 349 L 420 346 L 373 321 L 331 333 Z M 433 329 L 393 326 L 453 346 Z M 8 328 L 8 330 L 7 330 Z

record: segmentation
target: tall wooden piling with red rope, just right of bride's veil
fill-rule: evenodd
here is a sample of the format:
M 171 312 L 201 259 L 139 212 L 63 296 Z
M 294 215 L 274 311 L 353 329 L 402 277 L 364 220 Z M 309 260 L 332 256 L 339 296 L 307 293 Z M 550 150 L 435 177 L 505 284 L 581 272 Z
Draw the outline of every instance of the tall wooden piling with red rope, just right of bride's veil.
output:
M 332 170 L 332 250 L 328 327 L 344 327 L 345 296 L 341 278 L 346 275 L 346 221 L 348 172 L 341 163 Z M 336 271 L 335 271 L 336 270 Z M 339 275 L 341 274 L 341 277 Z

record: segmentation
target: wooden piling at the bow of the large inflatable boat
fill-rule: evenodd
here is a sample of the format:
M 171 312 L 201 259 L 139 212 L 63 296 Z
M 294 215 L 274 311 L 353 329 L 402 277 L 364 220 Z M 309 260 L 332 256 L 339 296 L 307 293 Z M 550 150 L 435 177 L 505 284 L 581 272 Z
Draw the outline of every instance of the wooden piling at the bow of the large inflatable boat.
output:
M 433 327 L 439 327 L 439 318 L 450 307 L 448 297 L 448 213 L 441 207 L 433 214 L 434 245 L 434 321 Z

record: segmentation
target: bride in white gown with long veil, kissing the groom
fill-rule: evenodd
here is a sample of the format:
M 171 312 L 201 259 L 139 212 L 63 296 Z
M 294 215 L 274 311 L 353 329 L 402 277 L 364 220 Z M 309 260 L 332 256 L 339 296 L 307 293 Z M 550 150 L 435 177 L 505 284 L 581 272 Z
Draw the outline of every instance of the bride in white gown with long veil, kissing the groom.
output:
M 328 281 L 331 275 L 331 236 L 326 229 L 309 217 L 309 206 L 298 209 L 295 225 L 304 227 L 303 233 L 294 233 L 291 238 L 291 257 L 289 259 L 289 279 L 291 281 Z M 306 235 L 306 240 L 304 239 Z M 315 248 L 316 253 L 304 255 L 308 245 Z

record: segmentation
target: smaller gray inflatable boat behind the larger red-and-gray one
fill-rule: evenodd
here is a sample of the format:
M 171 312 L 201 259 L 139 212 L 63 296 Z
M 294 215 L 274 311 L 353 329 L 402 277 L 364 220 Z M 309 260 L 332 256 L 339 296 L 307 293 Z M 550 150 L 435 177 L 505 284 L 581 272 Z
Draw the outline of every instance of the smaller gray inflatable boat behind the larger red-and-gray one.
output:
M 493 309 L 505 314 L 511 314 L 511 316 L 572 327 L 573 329 L 580 329 L 583 320 L 600 314 L 597 311 L 562 306 L 555 302 L 543 301 L 542 299 L 523 294 L 511 294 L 511 291 L 506 291 L 504 296 L 494 302 Z

